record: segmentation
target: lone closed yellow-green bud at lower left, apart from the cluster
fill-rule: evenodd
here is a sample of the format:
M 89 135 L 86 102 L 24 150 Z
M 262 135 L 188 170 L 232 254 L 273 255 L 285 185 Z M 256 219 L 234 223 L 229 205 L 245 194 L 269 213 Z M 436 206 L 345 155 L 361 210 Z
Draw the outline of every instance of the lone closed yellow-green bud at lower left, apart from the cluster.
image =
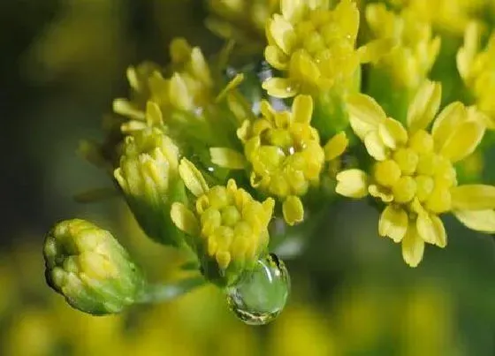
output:
M 43 246 L 47 283 L 76 309 L 116 314 L 141 295 L 141 270 L 109 231 L 80 219 L 57 223 Z

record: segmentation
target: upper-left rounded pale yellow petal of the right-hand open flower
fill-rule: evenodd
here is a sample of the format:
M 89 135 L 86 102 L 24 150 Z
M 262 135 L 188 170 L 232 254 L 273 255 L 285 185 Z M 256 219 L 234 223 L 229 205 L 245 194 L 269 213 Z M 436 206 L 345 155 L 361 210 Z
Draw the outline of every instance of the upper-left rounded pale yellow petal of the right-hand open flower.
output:
M 346 104 L 351 127 L 361 140 L 371 131 L 376 131 L 386 118 L 382 107 L 368 95 L 349 95 Z

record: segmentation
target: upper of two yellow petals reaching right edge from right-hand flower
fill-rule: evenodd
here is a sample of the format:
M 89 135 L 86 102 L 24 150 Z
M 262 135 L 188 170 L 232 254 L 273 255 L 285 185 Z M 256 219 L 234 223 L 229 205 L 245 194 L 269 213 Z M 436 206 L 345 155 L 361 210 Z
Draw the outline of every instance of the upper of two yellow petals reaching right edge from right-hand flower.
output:
M 451 188 L 454 210 L 486 210 L 495 208 L 495 186 L 465 185 Z

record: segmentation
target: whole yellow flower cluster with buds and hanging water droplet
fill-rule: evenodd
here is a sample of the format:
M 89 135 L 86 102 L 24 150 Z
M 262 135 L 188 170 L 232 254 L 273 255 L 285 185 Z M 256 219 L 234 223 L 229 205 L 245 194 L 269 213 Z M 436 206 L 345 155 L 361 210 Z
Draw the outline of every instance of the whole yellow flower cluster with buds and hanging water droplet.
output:
M 49 284 L 72 307 L 111 314 L 211 283 L 240 319 L 261 324 L 280 313 L 289 286 L 270 231 L 303 230 L 328 202 L 374 201 L 379 235 L 401 243 L 411 267 L 425 244 L 446 246 L 446 213 L 495 233 L 495 186 L 459 173 L 463 161 L 483 161 L 478 148 L 495 128 L 494 35 L 485 45 L 483 26 L 455 12 L 465 38 L 449 75 L 468 90 L 429 79 L 437 66 L 455 68 L 454 56 L 442 62 L 444 42 L 455 42 L 441 41 L 423 10 L 466 2 L 209 0 L 207 26 L 228 40 L 220 53 L 209 59 L 178 38 L 167 67 L 131 66 L 110 139 L 82 149 L 111 172 L 148 237 L 187 251 L 198 276 L 154 294 L 108 231 L 72 220 L 45 240 Z M 251 50 L 264 67 L 232 60 Z

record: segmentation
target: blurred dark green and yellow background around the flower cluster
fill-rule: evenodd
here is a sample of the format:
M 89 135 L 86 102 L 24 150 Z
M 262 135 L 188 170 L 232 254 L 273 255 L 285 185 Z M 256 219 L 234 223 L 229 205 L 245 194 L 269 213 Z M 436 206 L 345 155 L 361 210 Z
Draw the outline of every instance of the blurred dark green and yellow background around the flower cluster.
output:
M 0 2 L 1 355 L 495 355 L 495 240 L 446 218 L 445 250 L 429 246 L 407 268 L 377 236 L 377 212 L 339 202 L 286 261 L 293 294 L 276 322 L 248 327 L 205 287 L 156 307 L 91 317 L 44 284 L 42 239 L 82 217 L 118 236 L 154 280 L 179 276 L 176 254 L 146 239 L 123 201 L 78 204 L 110 186 L 77 153 L 101 140 L 101 117 L 126 95 L 125 71 L 166 63 L 176 35 L 211 53 L 201 1 Z M 493 159 L 491 155 L 491 159 Z M 495 184 L 492 160 L 486 183 Z

